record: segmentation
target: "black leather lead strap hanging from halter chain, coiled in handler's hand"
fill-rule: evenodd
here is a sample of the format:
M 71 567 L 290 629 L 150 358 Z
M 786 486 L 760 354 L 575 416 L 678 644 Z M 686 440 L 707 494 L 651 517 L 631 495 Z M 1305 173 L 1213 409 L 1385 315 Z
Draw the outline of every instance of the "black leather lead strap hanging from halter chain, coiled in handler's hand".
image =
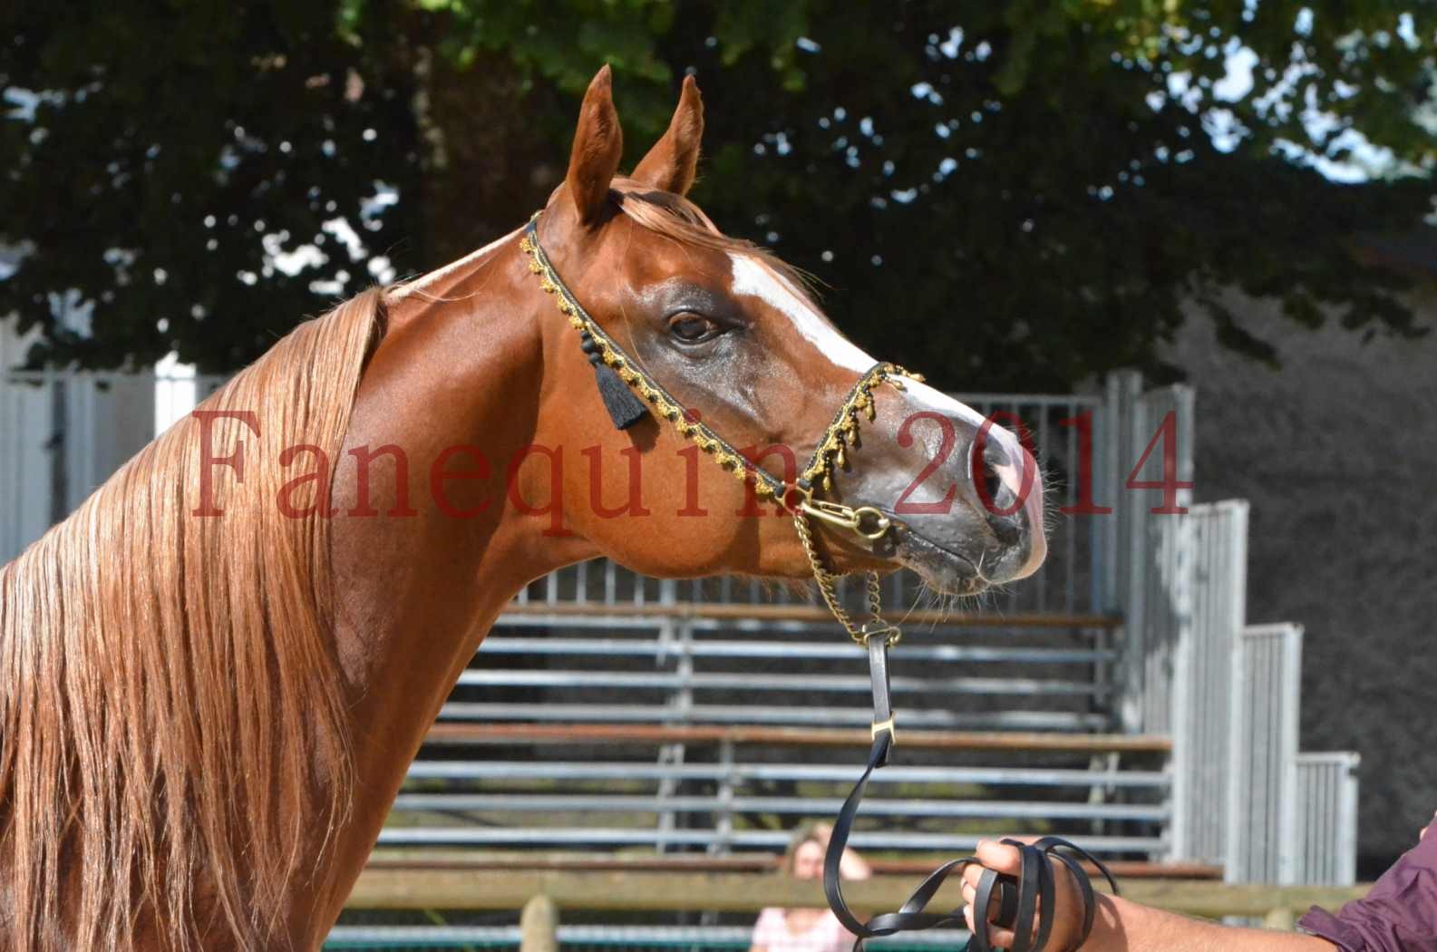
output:
M 842 810 L 838 811 L 838 818 L 833 821 L 833 833 L 828 841 L 828 854 L 823 859 L 823 893 L 828 896 L 829 909 L 833 910 L 838 920 L 844 923 L 845 929 L 858 936 L 858 940 L 854 943 L 854 952 L 862 952 L 864 939 L 943 926 L 966 926 L 961 906 L 951 912 L 927 912 L 927 907 L 948 876 L 953 873 L 961 874 L 969 864 L 981 866 L 976 856 L 950 860 L 930 873 L 897 912 L 879 913 L 868 922 L 859 922 L 858 916 L 848 907 L 848 903 L 844 902 L 844 890 L 838 871 L 839 863 L 844 859 L 844 850 L 848 846 L 848 836 L 854 830 L 854 820 L 858 815 L 858 805 L 864 800 L 864 791 L 868 788 L 868 779 L 875 769 L 888 765 L 888 755 L 894 746 L 894 712 L 888 689 L 888 639 L 884 634 L 875 634 L 875 637 L 867 640 L 867 644 L 868 667 L 872 674 L 874 687 L 874 746 L 868 752 L 868 765 L 864 769 L 864 775 L 858 778 L 854 792 L 848 795 Z M 1083 903 L 1083 926 L 1078 945 L 1086 942 L 1088 935 L 1092 932 L 1096 902 L 1088 873 L 1073 854 L 1096 866 L 1108 880 L 1112 892 L 1117 893 L 1118 883 L 1112 879 L 1108 867 L 1082 847 L 1073 846 L 1059 837 L 1043 837 L 1032 844 L 1017 840 L 1003 840 L 1003 843 L 1017 847 L 1020 857 L 1019 874 L 1006 876 L 994 873 L 990 869 L 983 870 L 973 896 L 973 938 L 969 940 L 967 949 L 970 952 L 993 952 L 987 910 L 996 894 L 1000 910 L 997 925 L 1012 929 L 1015 933 L 1013 945 L 1009 946 L 1007 952 L 1043 952 L 1053 930 L 1053 897 L 1056 893 L 1053 869 L 1049 859 L 1062 863 L 1072 873 L 1073 882 L 1078 883 Z

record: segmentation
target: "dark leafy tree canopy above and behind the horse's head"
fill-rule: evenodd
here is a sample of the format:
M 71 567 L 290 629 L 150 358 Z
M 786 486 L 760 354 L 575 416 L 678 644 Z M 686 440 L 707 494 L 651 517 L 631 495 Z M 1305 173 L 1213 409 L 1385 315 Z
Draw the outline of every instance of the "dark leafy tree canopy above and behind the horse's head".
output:
M 696 70 L 694 197 L 944 384 L 1167 372 L 1187 301 L 1272 360 L 1226 288 L 1418 331 L 1354 244 L 1433 211 L 1421 4 L 109 0 L 0 26 L 0 86 L 40 95 L 0 122 L 0 243 L 27 250 L 0 313 L 45 328 L 37 360 L 233 368 L 385 265 L 514 227 L 604 62 L 629 161 Z M 358 260 L 325 230 L 341 216 Z M 93 302 L 89 335 L 53 318 L 66 289 Z

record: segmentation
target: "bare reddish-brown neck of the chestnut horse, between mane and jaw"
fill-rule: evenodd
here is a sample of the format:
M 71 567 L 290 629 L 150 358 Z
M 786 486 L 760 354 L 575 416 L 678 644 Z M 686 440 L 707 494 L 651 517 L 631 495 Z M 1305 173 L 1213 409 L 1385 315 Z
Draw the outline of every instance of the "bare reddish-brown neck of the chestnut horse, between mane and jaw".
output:
M 535 441 L 555 325 L 540 318 L 552 302 L 516 247 L 509 242 L 463 273 L 444 269 L 422 293 L 391 305 L 336 463 L 335 634 L 355 696 L 356 787 L 316 922 L 338 915 L 430 723 L 503 607 L 530 580 L 595 554 L 581 538 L 543 535 L 547 521 L 506 499 L 506 463 Z M 401 483 L 389 457 L 369 466 L 376 515 L 351 515 L 361 502 L 354 452 L 391 444 L 408 462 L 412 515 L 394 515 Z M 490 476 L 445 480 L 441 506 L 434 463 L 448 452 L 444 470 L 473 469 L 467 450 L 450 449 L 466 446 L 483 453 Z M 473 518 L 454 515 L 476 508 L 483 512 Z

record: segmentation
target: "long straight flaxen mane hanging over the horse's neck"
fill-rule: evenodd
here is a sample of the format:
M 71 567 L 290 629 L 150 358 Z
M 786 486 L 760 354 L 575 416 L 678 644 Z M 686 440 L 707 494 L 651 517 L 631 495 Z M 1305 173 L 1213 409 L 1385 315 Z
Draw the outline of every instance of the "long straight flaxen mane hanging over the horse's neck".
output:
M 329 519 L 280 512 L 315 469 L 280 454 L 338 459 L 384 328 L 366 290 L 201 404 L 254 414 L 213 420 L 243 482 L 188 416 L 0 568 L 0 948 L 276 948 L 352 774 Z M 201 469 L 223 515 L 197 515 Z

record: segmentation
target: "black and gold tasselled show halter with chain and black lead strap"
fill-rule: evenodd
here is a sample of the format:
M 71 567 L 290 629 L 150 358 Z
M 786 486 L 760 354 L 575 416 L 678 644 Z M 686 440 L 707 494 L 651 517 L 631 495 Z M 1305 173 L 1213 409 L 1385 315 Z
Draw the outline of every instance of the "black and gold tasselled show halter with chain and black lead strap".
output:
M 854 820 L 858 815 L 858 805 L 864 798 L 868 779 L 872 772 L 888 764 L 888 756 L 895 743 L 894 712 L 890 702 L 888 686 L 888 649 L 898 643 L 902 633 L 897 626 L 884 621 L 882 592 L 877 572 L 867 572 L 867 601 L 869 620 L 858 623 L 841 604 L 835 591 L 838 572 L 831 572 L 813 539 L 813 525 L 816 519 L 835 529 L 844 529 L 854 535 L 877 542 L 895 529 L 898 523 L 872 506 L 851 508 L 839 502 L 818 499 L 819 492 L 831 492 L 833 488 L 835 466 L 848 464 L 848 452 L 858 446 L 858 424 L 861 417 L 874 420 L 874 390 L 888 384 L 895 390 L 902 390 L 902 377 L 923 380 L 897 364 L 874 364 L 844 400 L 833 421 L 828 424 L 808 466 L 790 486 L 767 470 L 754 464 L 731 443 L 708 429 L 707 424 L 694 420 L 684 411 L 684 407 L 664 387 L 644 371 L 631 357 L 628 357 L 618 342 L 611 338 L 604 328 L 583 309 L 573 292 L 563 283 L 553 269 L 547 255 L 539 244 L 539 214 L 529 220 L 525 236 L 519 247 L 529 256 L 529 270 L 539 275 L 540 286 L 546 293 L 555 296 L 559 311 L 568 318 L 569 325 L 579 332 L 579 347 L 593 365 L 595 383 L 599 397 L 604 401 L 614 426 L 625 430 L 647 414 L 654 414 L 670 421 L 681 437 L 697 444 L 704 453 L 713 456 L 714 462 L 741 482 L 753 480 L 754 493 L 760 499 L 770 499 L 783 505 L 793 513 L 793 528 L 798 531 L 803 551 L 808 554 L 813 580 L 823 595 L 823 601 L 849 637 L 868 650 L 868 664 L 872 674 L 874 689 L 874 745 L 868 752 L 868 765 L 864 775 L 854 787 L 854 792 L 844 801 L 844 807 L 833 821 L 833 833 L 829 837 L 828 854 L 823 863 L 823 892 L 828 896 L 829 907 L 844 928 L 858 936 L 854 945 L 855 952 L 864 948 L 864 939 L 888 936 L 897 932 L 933 929 L 938 926 L 964 926 L 963 910 L 924 912 L 943 883 L 954 871 L 961 873 L 969 864 L 979 864 L 977 857 L 950 860 L 928 874 L 927 879 L 912 892 L 908 900 L 897 910 L 872 916 L 867 923 L 859 922 L 844 900 L 839 886 L 838 869 L 852 831 Z M 1071 873 L 1082 894 L 1083 929 L 1079 945 L 1086 940 L 1092 929 L 1096 903 L 1092 884 L 1086 871 L 1069 853 L 1076 854 L 1094 866 L 1106 877 L 1114 892 L 1118 886 L 1108 869 L 1083 848 L 1061 840 L 1058 837 L 1043 837 L 1032 844 L 1017 840 L 1003 840 L 1019 850 L 1022 866 L 1019 876 L 1004 876 L 984 869 L 979 880 L 973 906 L 976 930 L 969 943 L 973 952 L 990 952 L 989 922 L 983 910 L 996 897 L 1000 909 L 997 922 L 1013 929 L 1016 938 L 1009 952 L 1043 952 L 1053 926 L 1053 897 L 1055 880 L 1052 863 L 1062 863 Z M 1035 932 L 1036 928 L 1036 932 Z

